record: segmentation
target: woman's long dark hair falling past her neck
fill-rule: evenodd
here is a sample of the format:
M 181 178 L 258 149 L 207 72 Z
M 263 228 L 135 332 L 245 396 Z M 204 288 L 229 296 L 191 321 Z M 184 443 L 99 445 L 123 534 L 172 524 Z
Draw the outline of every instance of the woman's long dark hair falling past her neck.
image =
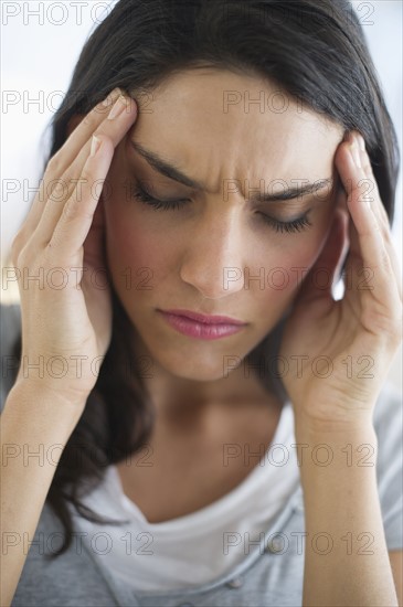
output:
M 266 78 L 344 131 L 359 130 L 392 223 L 400 164 L 396 135 L 363 31 L 347 0 L 119 0 L 83 47 L 51 124 L 45 164 L 66 140 L 70 119 L 88 113 L 115 87 L 137 98 L 174 72 L 206 66 Z M 138 451 L 152 430 L 155 411 L 141 370 L 135 363 L 128 369 L 128 361 L 136 360 L 130 334 L 130 320 L 113 289 L 110 345 L 46 497 L 65 531 L 52 557 L 72 543 L 67 502 L 89 520 L 110 522 L 81 503 L 81 497 L 102 481 L 106 466 Z M 280 334 L 282 322 L 246 360 L 256 364 L 273 354 Z M 21 356 L 21 336 L 13 352 Z M 271 375 L 262 381 L 282 393 L 278 376 L 274 371 Z

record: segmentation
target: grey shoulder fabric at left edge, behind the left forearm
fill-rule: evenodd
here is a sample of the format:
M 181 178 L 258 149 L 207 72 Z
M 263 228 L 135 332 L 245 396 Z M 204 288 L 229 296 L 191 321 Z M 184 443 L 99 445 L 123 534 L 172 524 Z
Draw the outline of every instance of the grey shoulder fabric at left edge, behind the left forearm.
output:
M 0 343 L 1 343 L 1 376 L 0 376 L 0 411 L 4 406 L 8 393 L 13 383 L 19 361 L 12 355 L 12 347 L 21 328 L 21 310 L 19 303 L 0 306 Z

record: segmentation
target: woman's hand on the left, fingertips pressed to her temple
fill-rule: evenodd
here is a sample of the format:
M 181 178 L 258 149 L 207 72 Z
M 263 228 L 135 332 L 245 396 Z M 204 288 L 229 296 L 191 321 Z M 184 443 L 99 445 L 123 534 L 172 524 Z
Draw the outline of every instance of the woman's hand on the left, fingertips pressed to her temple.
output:
M 115 148 L 137 117 L 134 99 L 125 96 L 121 104 L 120 93 L 108 96 L 109 105 L 93 108 L 51 158 L 11 247 L 22 326 L 15 384 L 83 408 L 112 338 L 98 201 Z M 110 108 L 123 111 L 108 119 Z M 92 156 L 94 135 L 100 146 Z

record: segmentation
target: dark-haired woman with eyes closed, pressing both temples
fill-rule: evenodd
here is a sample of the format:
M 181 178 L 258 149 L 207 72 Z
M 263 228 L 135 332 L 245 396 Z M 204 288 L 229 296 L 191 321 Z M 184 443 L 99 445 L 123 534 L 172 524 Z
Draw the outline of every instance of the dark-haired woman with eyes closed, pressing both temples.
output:
M 402 604 L 397 166 L 347 2 L 117 2 L 12 246 L 4 604 Z

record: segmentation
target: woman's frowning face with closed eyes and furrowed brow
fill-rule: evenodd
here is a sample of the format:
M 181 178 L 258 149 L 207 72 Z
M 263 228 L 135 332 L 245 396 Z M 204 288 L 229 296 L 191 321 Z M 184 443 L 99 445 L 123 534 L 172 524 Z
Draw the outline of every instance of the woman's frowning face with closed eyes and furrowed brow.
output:
M 331 182 L 291 200 L 263 196 L 335 181 L 343 131 L 274 85 L 224 71 L 182 72 L 147 102 L 138 98 L 139 116 L 108 173 L 107 262 L 141 351 L 176 376 L 212 381 L 276 326 L 332 221 Z M 188 184 L 162 174 L 135 145 L 174 166 Z M 134 198 L 139 182 L 151 196 L 173 201 L 171 207 Z M 275 223 L 296 220 L 294 227 Z M 172 309 L 245 324 L 201 339 L 179 332 L 159 311 Z

